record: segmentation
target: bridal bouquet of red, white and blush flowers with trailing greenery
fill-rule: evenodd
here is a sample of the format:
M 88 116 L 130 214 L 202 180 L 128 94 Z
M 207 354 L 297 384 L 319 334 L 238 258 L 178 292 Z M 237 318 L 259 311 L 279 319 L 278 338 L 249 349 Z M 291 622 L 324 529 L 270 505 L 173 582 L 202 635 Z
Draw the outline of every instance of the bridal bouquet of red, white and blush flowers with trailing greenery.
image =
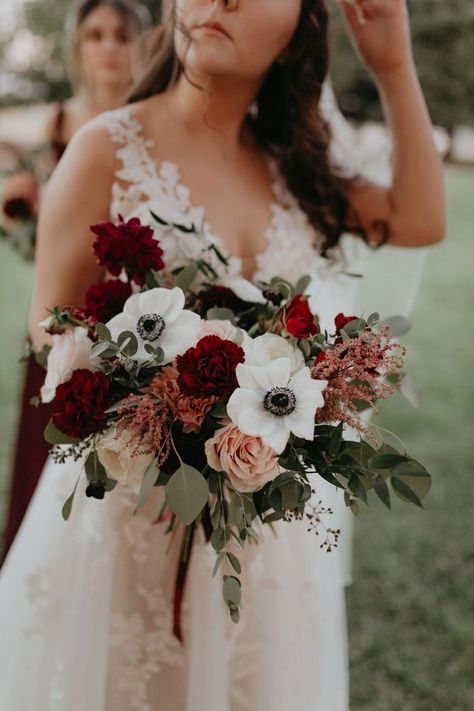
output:
M 194 226 L 154 218 L 159 229 L 197 238 Z M 375 313 L 339 314 L 328 333 L 304 296 L 309 278 L 226 279 L 212 244 L 170 270 L 138 218 L 92 231 L 97 259 L 115 278 L 92 286 L 83 309 L 55 308 L 44 323 L 53 345 L 43 354 L 41 399 L 54 407 L 45 436 L 56 461 L 85 461 L 87 496 L 127 487 L 138 510 L 163 487 L 157 519 L 167 532 L 185 531 L 181 583 L 201 524 L 216 552 L 214 575 L 226 569 L 224 600 L 237 622 L 238 551 L 277 521 L 304 519 L 318 533 L 327 513 L 315 499 L 320 477 L 354 512 L 371 490 L 387 507 L 390 490 L 421 505 L 426 469 L 361 417 L 403 377 L 390 324 Z M 349 428 L 359 436 L 348 437 Z M 323 528 L 330 550 L 339 532 Z

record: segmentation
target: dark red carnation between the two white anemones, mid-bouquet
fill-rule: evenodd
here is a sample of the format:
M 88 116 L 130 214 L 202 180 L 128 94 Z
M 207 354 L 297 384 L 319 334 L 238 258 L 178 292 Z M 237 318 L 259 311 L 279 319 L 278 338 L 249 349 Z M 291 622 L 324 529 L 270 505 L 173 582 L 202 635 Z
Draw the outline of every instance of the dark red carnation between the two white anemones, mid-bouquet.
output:
M 178 356 L 179 388 L 193 397 L 228 398 L 238 387 L 235 369 L 244 360 L 244 351 L 236 343 L 205 336 L 195 348 Z

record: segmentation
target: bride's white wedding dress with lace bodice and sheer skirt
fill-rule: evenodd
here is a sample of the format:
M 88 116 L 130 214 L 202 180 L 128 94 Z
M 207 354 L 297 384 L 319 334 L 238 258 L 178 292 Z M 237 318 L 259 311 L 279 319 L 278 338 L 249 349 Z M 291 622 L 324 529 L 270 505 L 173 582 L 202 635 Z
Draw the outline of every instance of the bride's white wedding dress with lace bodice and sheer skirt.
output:
M 111 215 L 149 216 L 203 226 L 178 169 L 157 163 L 129 109 L 99 119 L 116 144 L 119 169 Z M 328 262 L 320 237 L 274 173 L 267 246 L 255 279 L 292 281 L 311 273 L 323 322 L 350 311 L 353 255 Z M 243 213 L 244 214 L 244 213 Z M 168 266 L 202 249 L 195 235 L 160 237 Z M 194 240 L 194 241 L 193 241 Z M 350 264 L 350 271 L 354 265 Z M 239 259 L 230 260 L 238 277 Z M 81 465 L 49 461 L 0 573 L 2 711 L 347 711 L 348 659 L 341 556 L 320 549 L 304 522 L 262 530 L 239 554 L 243 609 L 233 624 L 222 600 L 215 553 L 199 531 L 183 609 L 184 644 L 172 633 L 179 541 L 155 523 L 163 490 L 135 516 L 135 496 L 117 487 L 104 501 L 84 495 L 82 475 L 71 518 L 61 507 Z M 317 499 L 339 506 L 339 492 L 315 478 Z M 324 519 L 334 526 L 331 516 Z M 344 531 L 341 534 L 344 537 Z

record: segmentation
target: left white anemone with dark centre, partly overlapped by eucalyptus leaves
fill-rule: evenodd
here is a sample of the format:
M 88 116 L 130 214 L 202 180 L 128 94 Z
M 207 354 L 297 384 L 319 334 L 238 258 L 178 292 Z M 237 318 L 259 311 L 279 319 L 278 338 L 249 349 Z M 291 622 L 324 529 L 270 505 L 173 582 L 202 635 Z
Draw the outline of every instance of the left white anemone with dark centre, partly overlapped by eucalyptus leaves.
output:
M 123 312 L 114 316 L 106 325 L 117 340 L 124 331 L 131 331 L 138 339 L 137 361 L 150 359 L 145 345 L 161 348 L 163 363 L 170 363 L 176 356 L 194 346 L 199 338 L 200 317 L 184 310 L 184 292 L 174 289 L 150 289 L 130 296 Z

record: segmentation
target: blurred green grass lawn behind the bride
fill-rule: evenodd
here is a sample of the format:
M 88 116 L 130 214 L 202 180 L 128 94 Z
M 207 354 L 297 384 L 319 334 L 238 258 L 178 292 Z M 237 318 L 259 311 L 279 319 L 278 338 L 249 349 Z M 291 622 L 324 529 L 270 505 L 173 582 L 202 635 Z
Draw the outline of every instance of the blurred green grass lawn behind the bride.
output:
M 379 419 L 430 468 L 434 486 L 424 511 L 395 502 L 387 514 L 374 502 L 357 520 L 352 711 L 474 709 L 474 171 L 448 168 L 447 182 L 450 236 L 428 257 L 406 338 L 422 404 L 395 398 Z M 4 507 L 31 270 L 3 244 L 0 276 Z

